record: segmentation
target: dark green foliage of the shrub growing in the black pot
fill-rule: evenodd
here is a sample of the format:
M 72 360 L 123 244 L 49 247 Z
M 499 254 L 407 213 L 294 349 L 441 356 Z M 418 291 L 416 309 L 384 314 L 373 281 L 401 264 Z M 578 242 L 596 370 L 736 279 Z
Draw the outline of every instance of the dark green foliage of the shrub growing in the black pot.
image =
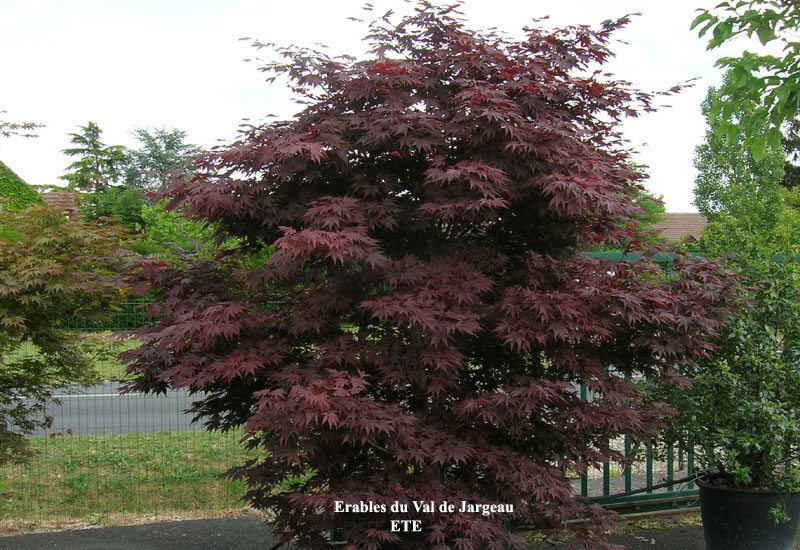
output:
M 721 235 L 721 233 L 715 233 Z M 746 290 L 715 339 L 718 349 L 687 367 L 691 386 L 655 395 L 677 412 L 667 440 L 692 448 L 728 486 L 800 490 L 800 263 L 796 249 L 737 235 L 726 259 Z M 704 235 L 705 239 L 705 235 Z M 789 461 L 787 463 L 787 461 Z

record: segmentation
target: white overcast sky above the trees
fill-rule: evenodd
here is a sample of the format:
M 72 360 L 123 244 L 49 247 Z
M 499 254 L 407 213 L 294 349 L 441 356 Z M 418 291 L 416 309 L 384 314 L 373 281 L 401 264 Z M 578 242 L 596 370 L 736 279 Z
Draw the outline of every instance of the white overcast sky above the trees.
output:
M 608 65 L 644 90 L 663 90 L 698 77 L 694 88 L 667 100 L 670 108 L 626 123 L 625 135 L 649 165 L 650 191 L 670 212 L 694 211 L 694 147 L 704 121 L 700 102 L 721 72 L 721 53 L 705 51 L 689 24 L 713 0 L 466 0 L 472 27 L 514 34 L 532 18 L 548 25 L 590 24 L 628 13 L 639 17 L 618 38 Z M 375 15 L 409 9 L 372 0 Z M 0 110 L 8 120 L 46 125 L 36 139 L 0 141 L 0 160 L 33 184 L 57 184 L 70 160 L 60 151 L 79 125 L 96 122 L 106 144 L 135 146 L 136 127 L 179 128 L 188 141 L 230 140 L 247 118 L 290 117 L 299 110 L 279 84 L 264 82 L 258 53 L 241 37 L 359 54 L 363 0 L 2 0 Z

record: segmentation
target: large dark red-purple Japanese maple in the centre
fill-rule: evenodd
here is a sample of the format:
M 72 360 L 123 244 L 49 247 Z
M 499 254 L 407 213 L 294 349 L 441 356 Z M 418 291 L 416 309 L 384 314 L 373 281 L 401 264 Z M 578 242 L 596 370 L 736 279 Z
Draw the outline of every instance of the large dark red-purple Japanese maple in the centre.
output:
M 205 392 L 209 428 L 244 427 L 263 453 L 233 475 L 299 547 L 337 529 L 347 548 L 506 548 L 512 521 L 604 547 L 614 514 L 568 476 L 658 428 L 667 411 L 629 379 L 680 383 L 730 297 L 714 265 L 582 255 L 630 245 L 641 214 L 618 123 L 651 96 L 593 72 L 627 20 L 521 40 L 426 2 L 394 21 L 370 26 L 365 60 L 273 47 L 264 70 L 305 109 L 164 191 L 242 245 L 138 266 L 157 320 L 127 355 L 132 387 Z M 431 500 L 514 513 L 334 506 Z

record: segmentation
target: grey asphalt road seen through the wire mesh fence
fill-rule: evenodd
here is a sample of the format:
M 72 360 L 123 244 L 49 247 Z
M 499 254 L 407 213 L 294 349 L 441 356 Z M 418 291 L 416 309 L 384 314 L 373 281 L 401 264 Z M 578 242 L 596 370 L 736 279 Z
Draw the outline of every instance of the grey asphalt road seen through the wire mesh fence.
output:
M 53 424 L 34 435 L 104 435 L 125 433 L 182 432 L 202 430 L 192 424 L 184 411 L 194 398 L 189 392 L 170 391 L 166 395 L 120 394 L 119 382 L 106 382 L 88 388 L 59 391 L 59 404 L 50 404 L 47 414 Z

